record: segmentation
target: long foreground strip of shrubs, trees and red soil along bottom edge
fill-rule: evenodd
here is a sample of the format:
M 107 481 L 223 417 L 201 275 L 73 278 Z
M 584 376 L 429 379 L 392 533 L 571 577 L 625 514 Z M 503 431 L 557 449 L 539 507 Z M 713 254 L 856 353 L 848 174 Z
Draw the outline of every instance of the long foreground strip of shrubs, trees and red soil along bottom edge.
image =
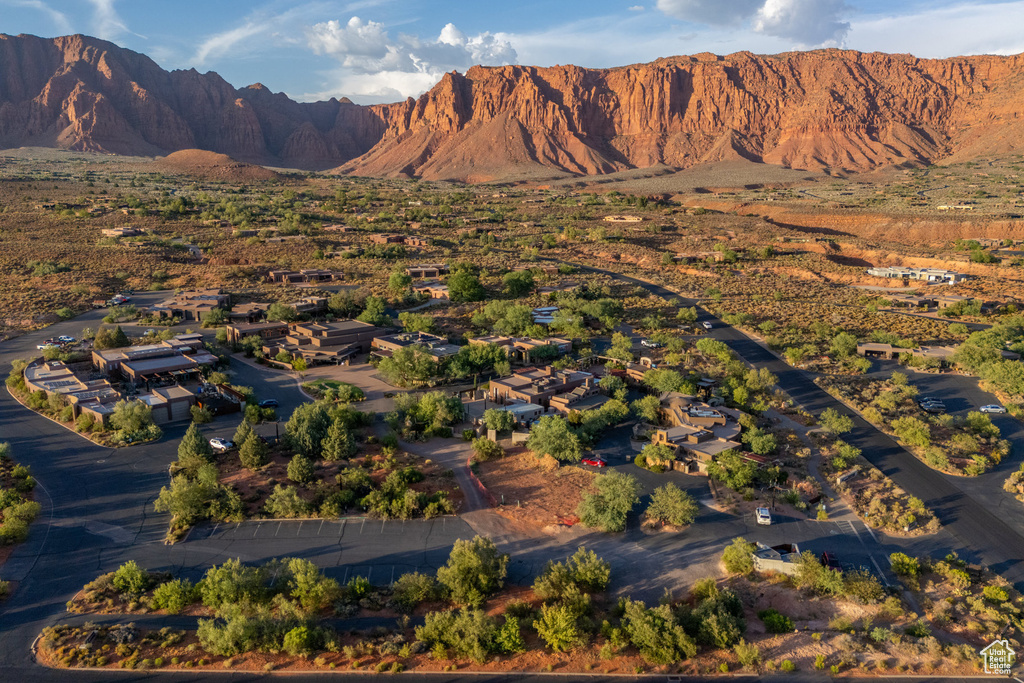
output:
M 736 539 L 722 554 L 729 578 L 666 590 L 656 605 L 629 597 L 634 578 L 616 577 L 585 548 L 549 562 L 531 585 L 509 586 L 512 558 L 480 537 L 457 541 L 436 573 L 389 586 L 361 577 L 342 585 L 299 558 L 228 560 L 195 585 L 128 562 L 69 609 L 136 623 L 181 614 L 179 628 L 58 625 L 43 630 L 37 656 L 57 668 L 134 670 L 964 677 L 979 666 L 978 650 L 1019 620 L 1020 595 L 955 555 L 892 556 L 916 593 L 911 603 L 870 571 L 830 568 L 809 552 L 787 549 L 785 573 L 756 571 L 758 557 L 773 552 Z M 616 583 L 621 597 L 607 593 Z M 918 604 L 926 611 L 915 613 Z

